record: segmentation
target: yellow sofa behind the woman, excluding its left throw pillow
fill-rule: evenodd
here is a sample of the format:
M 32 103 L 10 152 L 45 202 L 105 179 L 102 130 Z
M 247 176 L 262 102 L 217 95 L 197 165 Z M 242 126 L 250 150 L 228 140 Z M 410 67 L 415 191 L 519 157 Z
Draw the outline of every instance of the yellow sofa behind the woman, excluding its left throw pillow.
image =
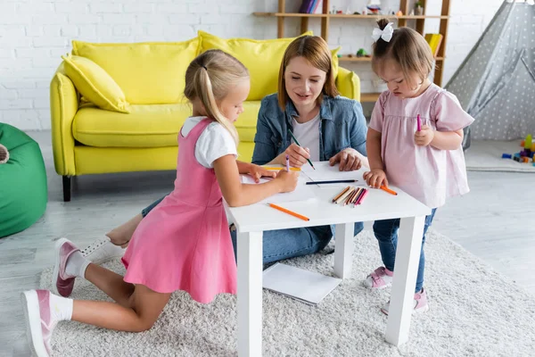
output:
M 50 84 L 50 101 L 53 159 L 56 172 L 63 177 L 64 201 L 70 201 L 73 176 L 176 168 L 177 133 L 191 115 L 191 106 L 182 95 L 185 69 L 210 48 L 235 55 L 251 72 L 251 94 L 235 123 L 239 159 L 251 161 L 260 100 L 276 92 L 282 55 L 292 39 L 222 39 L 199 31 L 198 37 L 179 43 L 73 41 L 72 55 L 95 62 L 119 85 L 128 101 L 128 113 L 87 103 L 62 62 Z M 358 76 L 338 67 L 336 51 L 333 59 L 340 92 L 359 100 Z

